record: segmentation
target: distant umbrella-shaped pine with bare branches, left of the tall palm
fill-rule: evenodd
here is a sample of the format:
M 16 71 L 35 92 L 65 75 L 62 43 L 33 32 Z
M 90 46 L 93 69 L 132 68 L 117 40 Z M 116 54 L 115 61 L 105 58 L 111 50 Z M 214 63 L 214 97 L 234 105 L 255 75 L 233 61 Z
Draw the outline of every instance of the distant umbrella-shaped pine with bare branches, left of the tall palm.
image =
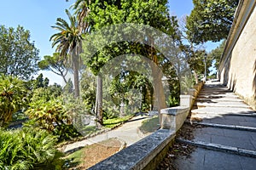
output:
M 59 53 L 54 53 L 52 56 L 45 55 L 44 59 L 38 62 L 38 66 L 41 70 L 52 71 L 56 75 L 61 76 L 65 83 L 67 83 L 67 71 L 68 66 L 65 65 L 64 59 Z

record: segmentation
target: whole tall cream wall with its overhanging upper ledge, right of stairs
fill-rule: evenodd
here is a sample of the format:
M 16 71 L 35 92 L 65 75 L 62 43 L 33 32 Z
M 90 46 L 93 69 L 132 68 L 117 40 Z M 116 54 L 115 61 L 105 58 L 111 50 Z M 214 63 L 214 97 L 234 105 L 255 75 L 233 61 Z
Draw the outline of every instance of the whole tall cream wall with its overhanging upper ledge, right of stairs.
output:
M 220 82 L 256 109 L 256 1 L 241 0 L 220 60 Z

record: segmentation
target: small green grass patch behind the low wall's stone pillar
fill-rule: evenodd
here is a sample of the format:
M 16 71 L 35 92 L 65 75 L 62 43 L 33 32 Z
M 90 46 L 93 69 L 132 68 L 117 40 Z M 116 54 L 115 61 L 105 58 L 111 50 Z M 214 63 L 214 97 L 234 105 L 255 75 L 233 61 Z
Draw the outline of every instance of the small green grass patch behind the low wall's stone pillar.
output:
M 159 123 L 159 117 L 153 116 L 152 118 L 143 121 L 142 126 L 139 128 L 143 133 L 153 133 L 154 131 L 159 129 Z

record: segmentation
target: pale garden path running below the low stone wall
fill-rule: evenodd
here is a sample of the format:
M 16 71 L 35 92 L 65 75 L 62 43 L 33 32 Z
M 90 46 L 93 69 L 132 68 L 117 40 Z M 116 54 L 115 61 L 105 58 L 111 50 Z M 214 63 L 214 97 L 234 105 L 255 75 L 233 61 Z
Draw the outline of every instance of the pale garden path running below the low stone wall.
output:
M 98 134 L 95 137 L 84 139 L 73 144 L 67 144 L 64 146 L 65 149 L 63 151 L 68 152 L 70 150 L 76 150 L 85 145 L 94 144 L 111 138 L 120 139 L 125 142 L 126 146 L 129 146 L 150 134 L 147 133 L 147 135 L 145 135 L 138 130 L 138 127 L 141 126 L 142 122 L 148 118 L 148 116 L 135 116 L 130 121 L 125 122 L 122 126 L 108 131 L 107 133 Z

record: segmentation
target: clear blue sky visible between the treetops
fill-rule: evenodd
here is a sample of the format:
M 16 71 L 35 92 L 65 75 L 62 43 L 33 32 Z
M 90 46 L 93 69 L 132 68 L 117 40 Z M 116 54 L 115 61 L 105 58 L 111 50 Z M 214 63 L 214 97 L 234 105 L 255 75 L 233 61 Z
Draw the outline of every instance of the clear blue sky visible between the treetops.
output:
M 67 20 L 65 9 L 69 8 L 75 0 L 0 0 L 0 25 L 7 27 L 23 26 L 31 32 L 31 40 L 35 42 L 40 50 L 40 57 L 51 55 L 54 49 L 51 48 L 49 37 L 55 33 L 50 26 L 55 26 L 58 17 Z M 192 0 L 169 0 L 171 14 L 178 18 L 184 14 L 190 14 L 193 8 Z M 207 44 L 207 50 L 215 48 L 216 45 Z M 45 72 L 44 76 L 49 77 L 50 82 L 59 82 L 61 77 L 54 77 L 54 73 Z

